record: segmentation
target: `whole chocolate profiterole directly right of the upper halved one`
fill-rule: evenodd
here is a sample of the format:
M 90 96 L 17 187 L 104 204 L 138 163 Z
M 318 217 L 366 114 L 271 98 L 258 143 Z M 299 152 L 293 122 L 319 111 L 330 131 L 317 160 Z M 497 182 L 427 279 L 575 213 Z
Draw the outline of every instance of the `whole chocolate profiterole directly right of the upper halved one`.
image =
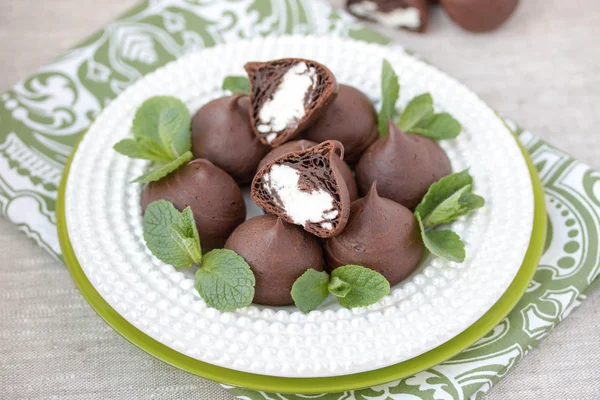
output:
M 371 100 L 352 86 L 340 85 L 325 114 L 303 135 L 313 142 L 337 140 L 344 145 L 344 160 L 356 164 L 377 137 L 377 112 Z

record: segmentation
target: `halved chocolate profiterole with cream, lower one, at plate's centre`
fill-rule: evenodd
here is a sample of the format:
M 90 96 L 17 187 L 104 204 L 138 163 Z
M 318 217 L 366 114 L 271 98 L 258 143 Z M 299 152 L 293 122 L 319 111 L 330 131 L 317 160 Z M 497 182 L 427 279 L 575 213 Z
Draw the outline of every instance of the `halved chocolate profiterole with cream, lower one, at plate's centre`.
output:
M 252 181 L 252 200 L 268 213 L 328 238 L 348 222 L 350 195 L 335 155 L 343 147 L 328 140 L 287 153 L 265 165 Z

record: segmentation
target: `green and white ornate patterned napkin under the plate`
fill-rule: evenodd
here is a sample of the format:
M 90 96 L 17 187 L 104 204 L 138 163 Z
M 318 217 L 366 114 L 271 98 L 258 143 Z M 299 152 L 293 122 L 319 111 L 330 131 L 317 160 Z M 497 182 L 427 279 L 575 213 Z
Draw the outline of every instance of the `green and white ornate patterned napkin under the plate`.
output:
M 319 0 L 146 1 L 0 95 L 1 214 L 60 258 L 54 212 L 62 169 L 100 110 L 144 74 L 187 52 L 282 33 L 388 42 Z M 600 174 L 531 133 L 515 131 L 540 172 L 549 222 L 541 264 L 516 308 L 471 348 L 427 371 L 311 399 L 478 398 L 598 283 Z M 228 389 L 243 399 L 307 398 Z

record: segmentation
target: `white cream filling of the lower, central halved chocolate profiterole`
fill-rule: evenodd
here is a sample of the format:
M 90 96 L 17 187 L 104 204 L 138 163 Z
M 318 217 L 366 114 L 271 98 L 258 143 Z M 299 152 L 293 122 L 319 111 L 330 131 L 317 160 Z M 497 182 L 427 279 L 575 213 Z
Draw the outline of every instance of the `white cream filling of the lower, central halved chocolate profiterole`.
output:
M 324 229 L 333 229 L 330 222 L 339 214 L 333 208 L 333 196 L 322 190 L 305 192 L 298 184 L 300 172 L 287 165 L 275 164 L 263 175 L 264 188 L 269 194 L 279 197 L 285 213 L 298 225 L 307 222 L 321 225 Z

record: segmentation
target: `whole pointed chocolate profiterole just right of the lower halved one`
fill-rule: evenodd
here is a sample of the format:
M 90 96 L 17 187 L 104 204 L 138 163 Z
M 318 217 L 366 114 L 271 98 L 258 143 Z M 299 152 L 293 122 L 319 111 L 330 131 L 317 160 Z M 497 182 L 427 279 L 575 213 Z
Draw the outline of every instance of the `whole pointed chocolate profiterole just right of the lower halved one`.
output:
M 374 183 L 366 197 L 352 203 L 346 229 L 325 241 L 329 271 L 357 264 L 385 276 L 390 285 L 419 265 L 424 245 L 418 222 L 406 207 L 379 197 Z

